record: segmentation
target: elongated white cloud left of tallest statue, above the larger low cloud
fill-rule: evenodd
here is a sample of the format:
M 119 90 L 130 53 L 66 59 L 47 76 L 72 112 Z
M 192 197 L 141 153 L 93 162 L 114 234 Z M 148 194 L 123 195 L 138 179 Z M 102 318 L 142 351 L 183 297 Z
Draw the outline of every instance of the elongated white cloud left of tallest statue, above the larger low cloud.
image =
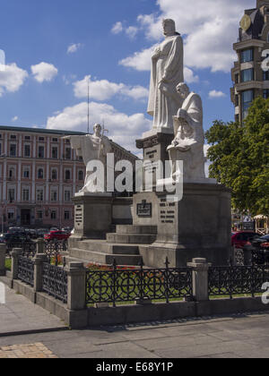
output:
M 74 96 L 76 98 L 88 97 L 88 82 L 91 76 L 85 76 L 82 81 L 74 82 Z M 127 86 L 124 83 L 109 82 L 107 80 L 91 81 L 90 97 L 95 100 L 108 100 L 115 95 L 134 98 L 136 100 L 145 99 L 149 96 L 149 90 L 143 86 Z

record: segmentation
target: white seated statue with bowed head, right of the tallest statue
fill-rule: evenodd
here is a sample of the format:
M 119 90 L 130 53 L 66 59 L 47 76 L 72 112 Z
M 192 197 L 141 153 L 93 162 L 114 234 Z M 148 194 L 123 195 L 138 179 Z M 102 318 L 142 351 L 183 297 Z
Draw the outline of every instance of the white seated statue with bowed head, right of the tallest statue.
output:
M 184 181 L 205 179 L 202 99 L 190 92 L 184 82 L 178 84 L 177 90 L 184 102 L 178 115 L 173 116 L 175 139 L 167 149 L 172 160 L 172 177 L 184 175 Z M 183 171 L 178 169 L 177 160 L 183 161 Z

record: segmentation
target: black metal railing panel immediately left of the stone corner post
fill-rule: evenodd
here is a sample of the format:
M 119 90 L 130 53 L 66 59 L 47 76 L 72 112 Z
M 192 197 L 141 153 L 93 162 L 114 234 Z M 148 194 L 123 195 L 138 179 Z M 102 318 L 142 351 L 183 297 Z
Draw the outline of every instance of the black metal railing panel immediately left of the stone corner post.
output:
M 43 291 L 67 303 L 67 273 L 64 268 L 43 264 Z

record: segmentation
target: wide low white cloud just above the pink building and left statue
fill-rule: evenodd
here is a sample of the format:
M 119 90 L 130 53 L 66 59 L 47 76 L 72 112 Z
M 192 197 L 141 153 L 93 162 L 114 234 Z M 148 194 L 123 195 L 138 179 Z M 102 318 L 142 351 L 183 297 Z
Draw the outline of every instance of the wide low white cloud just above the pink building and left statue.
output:
M 141 138 L 143 132 L 150 130 L 152 122 L 143 114 L 126 115 L 118 112 L 113 106 L 91 102 L 91 124 L 105 122 L 108 137 L 126 150 L 137 153 L 135 140 Z M 88 104 L 82 102 L 74 107 L 66 107 L 57 115 L 48 117 L 47 128 L 68 131 L 87 130 Z

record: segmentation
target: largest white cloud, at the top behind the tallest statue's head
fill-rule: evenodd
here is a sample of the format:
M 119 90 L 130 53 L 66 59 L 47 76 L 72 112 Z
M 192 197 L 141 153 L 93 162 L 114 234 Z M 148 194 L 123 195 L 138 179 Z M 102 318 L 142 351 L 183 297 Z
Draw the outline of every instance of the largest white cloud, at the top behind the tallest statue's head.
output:
M 254 6 L 253 3 L 254 0 L 158 0 L 161 14 L 141 14 L 137 22 L 146 38 L 159 41 L 162 38 L 161 20 L 174 19 L 185 38 L 187 67 L 228 73 L 235 58 L 232 44 L 238 38 L 239 19 L 245 9 Z M 126 57 L 121 64 L 142 70 L 146 51 L 149 53 L 143 50 Z

